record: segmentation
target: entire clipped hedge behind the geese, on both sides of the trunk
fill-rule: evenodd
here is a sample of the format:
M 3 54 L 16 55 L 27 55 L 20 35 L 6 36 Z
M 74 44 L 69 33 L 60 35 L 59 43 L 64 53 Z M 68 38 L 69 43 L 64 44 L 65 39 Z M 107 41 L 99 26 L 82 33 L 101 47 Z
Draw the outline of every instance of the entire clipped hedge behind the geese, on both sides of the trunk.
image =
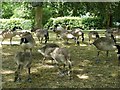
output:
M 21 26 L 23 29 L 28 30 L 32 27 L 31 20 L 25 19 L 0 19 L 0 29 L 12 29 L 15 24 Z M 55 25 L 67 25 L 68 29 L 74 27 L 80 27 L 83 29 L 90 29 L 92 27 L 101 29 L 103 27 L 102 20 L 100 18 L 80 18 L 80 17 L 57 17 L 50 18 L 44 25 L 45 28 L 53 28 Z

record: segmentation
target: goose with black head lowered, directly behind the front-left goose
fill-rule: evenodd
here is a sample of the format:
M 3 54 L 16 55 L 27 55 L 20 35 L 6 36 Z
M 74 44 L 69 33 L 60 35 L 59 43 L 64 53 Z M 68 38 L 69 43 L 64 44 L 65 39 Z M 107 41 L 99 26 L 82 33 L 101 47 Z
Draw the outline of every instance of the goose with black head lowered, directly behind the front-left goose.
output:
M 30 32 L 24 32 L 21 36 L 20 46 L 26 52 L 27 49 L 30 49 L 32 52 L 32 48 L 35 46 L 35 40 Z

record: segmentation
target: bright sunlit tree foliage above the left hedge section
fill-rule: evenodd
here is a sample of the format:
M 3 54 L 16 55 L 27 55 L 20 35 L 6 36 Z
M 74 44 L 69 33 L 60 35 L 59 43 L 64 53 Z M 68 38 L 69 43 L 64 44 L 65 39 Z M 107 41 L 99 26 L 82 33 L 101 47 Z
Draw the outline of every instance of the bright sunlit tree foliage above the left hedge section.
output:
M 26 2 L 3 2 L 2 18 L 31 18 L 31 6 Z

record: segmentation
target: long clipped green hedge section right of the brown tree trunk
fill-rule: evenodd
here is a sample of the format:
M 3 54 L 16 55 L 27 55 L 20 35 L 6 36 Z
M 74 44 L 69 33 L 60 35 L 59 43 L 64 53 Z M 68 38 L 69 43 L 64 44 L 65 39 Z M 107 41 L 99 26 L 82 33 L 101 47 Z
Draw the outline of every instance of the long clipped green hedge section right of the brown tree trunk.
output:
M 80 18 L 80 17 L 58 17 L 58 18 L 50 18 L 48 23 L 45 24 L 44 27 L 53 28 L 54 25 L 67 25 L 69 29 L 73 27 L 80 27 L 83 29 L 94 28 L 102 28 L 102 20 L 100 18 Z

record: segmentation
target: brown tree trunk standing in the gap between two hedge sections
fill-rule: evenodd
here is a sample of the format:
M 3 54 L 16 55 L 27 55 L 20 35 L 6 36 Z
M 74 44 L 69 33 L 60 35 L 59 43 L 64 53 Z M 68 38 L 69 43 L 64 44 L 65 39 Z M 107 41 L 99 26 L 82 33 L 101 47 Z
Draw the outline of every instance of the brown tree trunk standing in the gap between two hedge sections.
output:
M 42 28 L 42 7 L 35 7 L 35 28 Z

